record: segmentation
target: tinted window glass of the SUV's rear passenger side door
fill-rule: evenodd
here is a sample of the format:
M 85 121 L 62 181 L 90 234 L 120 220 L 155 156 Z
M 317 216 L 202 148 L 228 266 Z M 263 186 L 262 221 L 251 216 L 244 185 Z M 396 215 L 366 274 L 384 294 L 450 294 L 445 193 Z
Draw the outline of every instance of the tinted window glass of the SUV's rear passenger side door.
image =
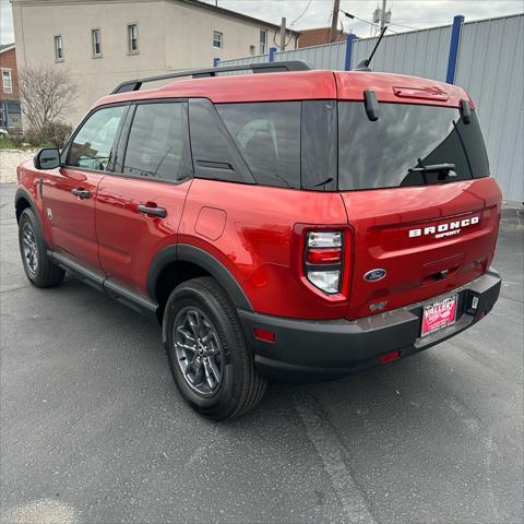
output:
M 188 176 L 188 104 L 139 104 L 129 133 L 123 172 L 177 181 Z

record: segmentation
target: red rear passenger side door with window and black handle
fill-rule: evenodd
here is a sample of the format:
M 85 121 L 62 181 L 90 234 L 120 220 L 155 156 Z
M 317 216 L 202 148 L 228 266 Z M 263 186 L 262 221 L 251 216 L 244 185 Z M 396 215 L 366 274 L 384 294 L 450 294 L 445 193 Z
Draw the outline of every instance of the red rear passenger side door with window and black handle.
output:
M 108 277 L 145 290 L 153 257 L 176 242 L 191 183 L 187 100 L 134 105 L 118 158 L 96 196 L 100 263 Z

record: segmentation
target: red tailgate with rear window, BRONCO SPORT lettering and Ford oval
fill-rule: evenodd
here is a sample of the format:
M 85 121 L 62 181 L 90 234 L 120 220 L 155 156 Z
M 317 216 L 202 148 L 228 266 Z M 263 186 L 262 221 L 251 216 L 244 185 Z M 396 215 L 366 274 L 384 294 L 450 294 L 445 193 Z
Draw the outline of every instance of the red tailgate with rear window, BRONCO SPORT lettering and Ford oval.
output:
M 452 289 L 491 262 L 501 194 L 475 112 L 338 104 L 338 189 L 355 231 L 348 317 L 386 311 Z

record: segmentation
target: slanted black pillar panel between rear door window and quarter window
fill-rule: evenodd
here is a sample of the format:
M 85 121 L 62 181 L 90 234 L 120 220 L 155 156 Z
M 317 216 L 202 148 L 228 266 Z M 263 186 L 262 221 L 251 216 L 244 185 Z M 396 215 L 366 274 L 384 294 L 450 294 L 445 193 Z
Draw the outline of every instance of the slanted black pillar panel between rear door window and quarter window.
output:
M 246 162 L 206 98 L 189 102 L 189 127 L 194 175 L 199 178 L 253 183 Z

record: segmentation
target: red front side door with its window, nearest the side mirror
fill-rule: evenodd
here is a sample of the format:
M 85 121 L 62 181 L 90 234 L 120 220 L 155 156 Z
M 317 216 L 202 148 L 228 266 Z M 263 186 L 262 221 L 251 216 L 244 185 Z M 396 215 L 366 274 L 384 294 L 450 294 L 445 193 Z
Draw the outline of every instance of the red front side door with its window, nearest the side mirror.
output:
M 100 108 L 82 124 L 66 155 L 66 166 L 44 175 L 45 219 L 53 249 L 100 269 L 95 231 L 95 201 L 126 106 Z

